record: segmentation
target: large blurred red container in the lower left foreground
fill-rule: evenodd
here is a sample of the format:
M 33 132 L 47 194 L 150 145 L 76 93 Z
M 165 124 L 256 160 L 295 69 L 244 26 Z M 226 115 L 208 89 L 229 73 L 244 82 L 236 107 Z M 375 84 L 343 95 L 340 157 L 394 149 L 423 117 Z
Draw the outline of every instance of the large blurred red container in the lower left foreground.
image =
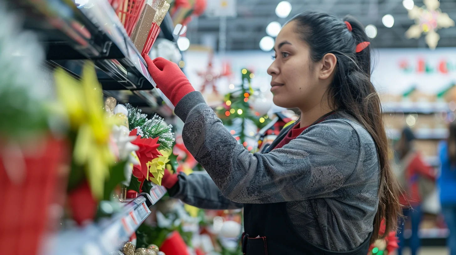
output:
M 63 166 L 68 155 L 64 142 L 50 138 L 35 149 L 32 155 L 23 152 L 23 157 L 15 158 L 6 152 L 8 145 L 0 142 L 2 254 L 36 255 L 43 237 L 59 217 L 53 205 L 62 206 L 65 199 L 67 168 Z M 6 167 L 11 168 L 11 163 L 24 170 L 19 182 L 7 174 Z

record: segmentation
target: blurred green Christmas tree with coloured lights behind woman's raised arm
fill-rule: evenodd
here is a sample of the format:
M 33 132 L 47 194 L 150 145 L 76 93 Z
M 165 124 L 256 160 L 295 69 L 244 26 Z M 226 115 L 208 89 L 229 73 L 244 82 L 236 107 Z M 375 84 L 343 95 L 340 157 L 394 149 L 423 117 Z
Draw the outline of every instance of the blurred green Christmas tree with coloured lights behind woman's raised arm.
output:
M 252 107 L 252 101 L 262 100 L 265 98 L 255 98 L 260 95 L 258 90 L 254 90 L 251 86 L 251 81 L 255 75 L 247 70 L 242 69 L 242 84 L 239 86 L 230 85 L 233 91 L 226 94 L 223 98 L 223 104 L 216 108 L 218 117 L 223 120 L 223 124 L 232 128 L 231 134 L 244 145 L 249 151 L 253 150 L 246 141 L 248 138 L 255 138 L 258 130 L 266 126 L 270 119 L 266 114 L 269 109 L 269 104 L 266 109 L 255 109 Z M 252 125 L 253 124 L 253 125 Z

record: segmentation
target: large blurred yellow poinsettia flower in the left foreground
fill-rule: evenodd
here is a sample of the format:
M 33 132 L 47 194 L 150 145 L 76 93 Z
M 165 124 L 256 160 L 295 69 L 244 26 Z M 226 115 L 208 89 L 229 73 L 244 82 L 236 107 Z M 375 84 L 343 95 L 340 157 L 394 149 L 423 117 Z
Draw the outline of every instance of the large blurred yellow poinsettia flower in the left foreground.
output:
M 58 100 L 67 112 L 71 128 L 77 132 L 74 163 L 85 166 L 92 194 L 101 199 L 115 157 L 109 149 L 112 122 L 103 109 L 103 94 L 93 63 L 84 64 L 81 82 L 60 68 L 55 72 L 55 81 Z

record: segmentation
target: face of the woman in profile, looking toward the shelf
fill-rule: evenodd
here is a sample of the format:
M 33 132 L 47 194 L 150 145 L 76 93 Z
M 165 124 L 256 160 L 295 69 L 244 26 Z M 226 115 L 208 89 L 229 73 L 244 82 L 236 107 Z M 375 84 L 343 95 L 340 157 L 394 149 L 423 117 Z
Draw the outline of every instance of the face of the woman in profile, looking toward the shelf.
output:
M 329 82 L 322 82 L 321 63 L 313 63 L 309 46 L 286 24 L 275 40 L 275 61 L 269 66 L 275 105 L 306 111 L 321 103 Z M 326 83 L 326 84 L 325 84 Z

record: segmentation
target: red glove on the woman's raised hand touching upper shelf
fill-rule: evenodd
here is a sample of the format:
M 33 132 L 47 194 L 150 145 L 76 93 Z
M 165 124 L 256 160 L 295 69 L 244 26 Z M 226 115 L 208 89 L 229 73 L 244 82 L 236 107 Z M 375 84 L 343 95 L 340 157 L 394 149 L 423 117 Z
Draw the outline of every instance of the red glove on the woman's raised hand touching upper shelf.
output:
M 167 61 L 162 57 L 151 60 L 149 56 L 143 54 L 150 76 L 157 84 L 157 88 L 165 94 L 171 103 L 176 106 L 182 97 L 195 91 L 192 84 L 188 81 L 181 68 L 176 63 Z

